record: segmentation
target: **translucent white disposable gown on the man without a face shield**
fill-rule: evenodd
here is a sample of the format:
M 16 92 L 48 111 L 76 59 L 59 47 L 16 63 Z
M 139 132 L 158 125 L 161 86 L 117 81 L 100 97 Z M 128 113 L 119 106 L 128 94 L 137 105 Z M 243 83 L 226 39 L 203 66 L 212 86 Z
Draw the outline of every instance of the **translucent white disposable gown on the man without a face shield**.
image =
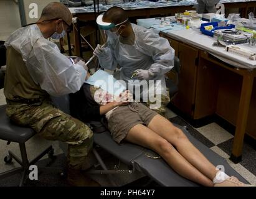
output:
M 85 81 L 87 71 L 62 55 L 56 44 L 43 37 L 36 24 L 16 30 L 5 45 L 21 53 L 32 80 L 49 95 L 75 93 Z

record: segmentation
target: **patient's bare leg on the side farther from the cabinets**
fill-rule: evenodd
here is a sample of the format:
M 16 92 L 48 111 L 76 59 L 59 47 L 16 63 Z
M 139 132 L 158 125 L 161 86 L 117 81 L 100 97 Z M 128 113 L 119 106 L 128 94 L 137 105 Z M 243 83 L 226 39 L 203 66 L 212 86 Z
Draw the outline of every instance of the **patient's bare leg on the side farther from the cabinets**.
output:
M 181 176 L 204 186 L 213 186 L 212 181 L 192 166 L 179 152 L 163 137 L 141 124 L 133 127 L 126 141 L 154 150 Z

